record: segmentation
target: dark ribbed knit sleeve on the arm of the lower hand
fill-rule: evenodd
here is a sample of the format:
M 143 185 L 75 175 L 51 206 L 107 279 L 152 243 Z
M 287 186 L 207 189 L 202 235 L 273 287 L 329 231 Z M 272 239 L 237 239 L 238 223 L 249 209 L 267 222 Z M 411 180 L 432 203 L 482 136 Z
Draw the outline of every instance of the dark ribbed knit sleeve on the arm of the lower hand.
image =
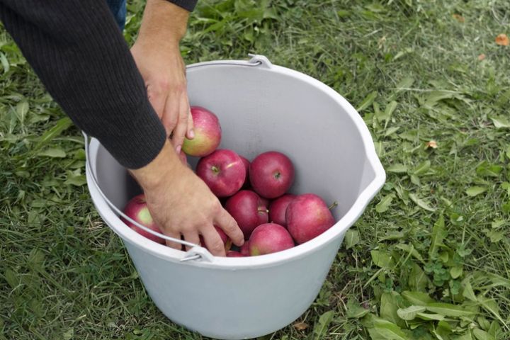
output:
M 0 0 L 0 19 L 64 112 L 120 164 L 159 154 L 166 132 L 106 1 Z

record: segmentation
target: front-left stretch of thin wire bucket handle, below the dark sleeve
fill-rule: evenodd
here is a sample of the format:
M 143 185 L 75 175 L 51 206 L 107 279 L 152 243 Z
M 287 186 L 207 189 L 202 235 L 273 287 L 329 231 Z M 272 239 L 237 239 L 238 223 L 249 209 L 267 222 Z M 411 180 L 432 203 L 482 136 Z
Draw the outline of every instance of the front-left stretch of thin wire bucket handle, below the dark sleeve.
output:
M 191 246 L 191 249 L 186 251 L 186 256 L 184 256 L 182 259 L 180 259 L 181 262 L 185 261 L 193 261 L 193 260 L 205 260 L 208 262 L 212 262 L 214 259 L 214 256 L 210 254 L 210 252 L 205 249 L 203 246 L 200 246 L 199 244 L 194 244 L 191 242 L 183 241 L 182 239 L 175 239 L 174 237 L 169 237 L 164 234 L 161 234 L 159 232 L 154 232 L 154 230 L 149 229 L 145 227 L 144 225 L 141 225 L 140 223 L 133 220 L 131 217 L 125 215 L 124 212 L 122 212 L 119 208 L 117 208 L 113 203 L 111 203 L 111 200 L 109 200 L 106 195 L 103 193 L 101 188 L 99 187 L 98 181 L 96 179 L 96 175 L 94 174 L 94 171 L 92 171 L 92 166 L 90 163 L 91 157 L 90 157 L 90 150 L 89 150 L 89 136 L 85 132 L 81 132 L 84 135 L 84 142 L 85 142 L 85 157 L 86 157 L 86 170 L 89 171 L 89 174 L 91 175 L 92 183 L 94 183 L 94 186 L 96 186 L 97 191 L 99 192 L 99 195 L 103 198 L 103 200 L 106 202 L 108 207 L 110 207 L 113 211 L 117 212 L 120 217 L 123 217 L 125 220 L 128 220 L 133 225 L 139 227 L 142 230 L 145 230 L 149 234 L 153 234 L 154 236 L 161 237 L 162 239 L 166 239 L 171 242 L 176 242 L 179 244 L 183 244 L 184 246 Z M 128 227 L 128 226 L 126 226 Z

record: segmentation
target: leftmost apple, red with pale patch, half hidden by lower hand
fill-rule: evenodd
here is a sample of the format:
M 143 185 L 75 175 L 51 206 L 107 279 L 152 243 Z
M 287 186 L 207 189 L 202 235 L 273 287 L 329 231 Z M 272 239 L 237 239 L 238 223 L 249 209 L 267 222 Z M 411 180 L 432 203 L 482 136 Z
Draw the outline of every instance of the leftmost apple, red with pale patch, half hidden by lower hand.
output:
M 141 193 L 140 195 L 131 198 L 128 204 L 126 204 L 124 207 L 124 213 L 125 215 L 128 215 L 128 217 L 132 218 L 132 220 L 140 223 L 140 225 L 154 230 L 154 232 L 162 233 L 161 229 L 159 229 L 159 227 L 156 225 L 156 222 L 154 222 L 152 216 L 150 215 L 149 208 L 147 208 L 147 202 L 145 200 L 145 194 Z M 150 239 L 159 244 L 165 243 L 165 240 L 161 237 L 157 237 L 149 232 L 146 232 L 144 229 L 133 225 L 123 217 L 120 217 L 120 219 L 123 220 L 123 222 L 128 225 L 128 227 L 135 230 L 135 232 L 142 235 L 143 237 L 147 237 L 147 239 Z

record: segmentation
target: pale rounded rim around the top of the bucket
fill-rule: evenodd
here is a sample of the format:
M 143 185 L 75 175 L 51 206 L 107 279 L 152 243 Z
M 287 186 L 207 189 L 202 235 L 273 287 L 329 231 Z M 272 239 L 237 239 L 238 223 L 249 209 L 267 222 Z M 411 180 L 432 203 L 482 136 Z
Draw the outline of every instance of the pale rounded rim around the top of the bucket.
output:
M 217 60 L 189 64 L 187 69 L 191 71 L 192 69 L 198 69 L 199 67 L 243 67 L 247 64 L 249 64 L 249 62 L 244 60 Z M 250 64 L 249 66 L 253 66 L 253 64 Z M 238 258 L 214 256 L 212 261 L 181 262 L 183 265 L 207 268 L 253 269 L 256 267 L 277 266 L 283 262 L 300 259 L 304 256 L 307 256 L 307 254 L 311 254 L 314 251 L 322 249 L 330 242 L 334 242 L 337 238 L 343 237 L 346 230 L 351 227 L 354 222 L 356 222 L 358 217 L 363 214 L 363 211 L 368 206 L 368 203 L 370 203 L 370 200 L 372 200 L 372 198 L 378 193 L 380 188 L 382 188 L 385 183 L 385 170 L 383 169 L 380 159 L 375 152 L 372 136 L 370 135 L 367 125 L 365 125 L 363 119 L 361 118 L 361 115 L 359 115 L 358 111 L 356 111 L 351 103 L 348 103 L 348 101 L 343 96 L 341 96 L 341 94 L 334 91 L 334 89 L 331 89 L 331 87 L 327 86 L 326 84 L 322 83 L 322 81 L 314 79 L 313 77 L 310 77 L 307 74 L 303 74 L 302 72 L 298 72 L 287 67 L 281 67 L 275 64 L 270 64 L 269 67 L 268 65 L 265 65 L 261 69 L 263 69 L 265 72 L 276 72 L 287 75 L 289 77 L 294 77 L 296 80 L 303 81 L 307 84 L 315 86 L 317 89 L 324 91 L 324 93 L 336 101 L 339 106 L 343 107 L 349 118 L 353 120 L 354 125 L 361 135 L 363 149 L 365 152 L 365 161 L 368 162 L 368 166 L 372 168 L 375 176 L 373 180 L 370 181 L 370 183 L 368 183 L 368 185 L 363 189 L 363 191 L 361 191 L 361 193 L 358 195 L 358 198 L 356 198 L 353 205 L 351 205 L 351 208 L 348 209 L 344 216 L 342 216 L 331 228 L 327 229 L 326 232 L 320 234 L 308 242 L 305 242 L 304 244 L 299 244 L 293 248 L 284 251 L 278 251 L 273 254 Z M 91 139 L 91 144 L 89 147 L 91 159 L 86 159 L 86 162 L 89 162 L 90 165 L 90 167 L 86 169 L 86 181 L 94 205 L 96 205 L 96 209 L 98 210 L 103 220 L 106 222 L 108 227 L 113 229 L 113 231 L 118 234 L 118 236 L 125 242 L 134 244 L 138 248 L 143 249 L 144 251 L 147 251 L 148 253 L 161 259 L 166 259 L 172 262 L 180 262 L 181 259 L 186 257 L 186 251 L 180 251 L 162 244 L 157 244 L 156 242 L 152 242 L 138 234 L 130 227 L 125 225 L 125 223 L 120 220 L 120 217 L 118 217 L 118 215 L 108 207 L 106 200 L 101 197 L 98 188 L 94 185 L 94 181 L 91 181 L 91 174 L 89 173 L 89 169 L 92 169 L 94 174 L 96 174 L 96 157 L 100 146 L 101 144 L 98 140 L 96 140 L 96 138 Z M 99 208 L 100 206 L 102 207 L 101 209 Z

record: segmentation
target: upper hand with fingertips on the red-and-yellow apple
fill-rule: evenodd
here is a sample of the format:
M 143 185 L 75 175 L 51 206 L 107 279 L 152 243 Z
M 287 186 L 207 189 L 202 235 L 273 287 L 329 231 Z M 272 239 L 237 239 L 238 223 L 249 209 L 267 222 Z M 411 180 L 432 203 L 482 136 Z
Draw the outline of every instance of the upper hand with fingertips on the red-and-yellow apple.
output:
M 147 96 L 177 153 L 184 137 L 193 139 L 193 119 L 186 89 L 186 67 L 179 41 L 189 13 L 169 1 L 149 0 L 131 54 L 145 80 Z M 171 20 L 169 20 L 171 18 Z

